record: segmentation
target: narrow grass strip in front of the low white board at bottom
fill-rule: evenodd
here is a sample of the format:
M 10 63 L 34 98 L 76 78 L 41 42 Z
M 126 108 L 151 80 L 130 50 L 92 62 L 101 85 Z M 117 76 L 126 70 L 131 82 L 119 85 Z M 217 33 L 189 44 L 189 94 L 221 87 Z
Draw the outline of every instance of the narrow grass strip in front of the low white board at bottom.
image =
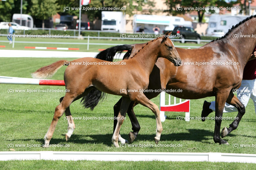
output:
M 128 161 L 62 161 L 62 160 L 25 160 L 25 161 L 0 161 L 1 169 L 255 169 L 255 164 L 227 163 L 227 162 L 128 162 Z

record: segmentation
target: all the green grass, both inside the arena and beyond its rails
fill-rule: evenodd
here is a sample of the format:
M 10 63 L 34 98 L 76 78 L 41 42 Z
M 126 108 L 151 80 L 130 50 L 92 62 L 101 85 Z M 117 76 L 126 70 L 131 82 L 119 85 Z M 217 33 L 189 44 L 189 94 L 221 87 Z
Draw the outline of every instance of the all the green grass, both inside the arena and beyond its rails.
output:
M 6 40 L 6 37 L 0 37 L 0 40 Z M 17 41 L 28 41 L 28 39 L 18 39 Z M 29 41 L 52 41 L 52 42 L 84 42 L 87 39 L 29 39 Z M 91 40 L 94 43 L 142 43 L 142 41 L 116 41 L 116 40 Z M 146 42 L 146 41 L 145 41 Z M 8 43 L 0 43 L 6 45 L 6 48 L 12 49 Z M 175 43 L 175 45 L 193 45 L 195 43 Z M 25 50 L 24 46 L 40 46 L 40 47 L 74 47 L 80 48 L 79 51 L 87 51 L 86 45 L 56 45 L 56 44 L 29 44 L 16 43 L 15 50 Z M 98 52 L 98 49 L 105 49 L 110 46 L 90 45 L 90 52 Z M 54 50 L 53 50 L 54 51 Z M 51 64 L 61 59 L 54 58 L 0 58 L 1 76 L 16 76 L 31 78 L 30 74 L 38 68 Z M 74 59 L 67 59 L 72 61 Z M 52 79 L 63 80 L 65 67 L 60 68 Z M 256 128 L 255 128 L 255 111 L 253 102 L 250 100 L 246 107 L 246 114 L 240 121 L 238 129 L 233 131 L 224 139 L 230 145 L 218 145 L 213 141 L 214 121 L 206 120 L 205 122 L 191 120 L 177 120 L 177 116 L 184 116 L 184 113 L 166 112 L 167 119 L 162 123 L 163 133 L 161 135 L 160 144 L 162 145 L 182 145 L 182 147 L 122 147 L 114 148 L 111 142 L 113 121 L 112 120 L 74 120 L 76 129 L 68 142 L 65 140 L 67 132 L 67 121 L 64 116 L 58 121 L 58 125 L 54 132 L 50 144 L 68 144 L 69 147 L 19 147 L 18 144 L 25 146 L 44 144 L 44 135 L 46 134 L 54 109 L 59 104 L 59 98 L 64 93 L 8 93 L 8 89 L 26 90 L 26 89 L 65 89 L 63 86 L 32 86 L 32 85 L 6 85 L 0 84 L 0 151 L 112 151 L 112 152 L 228 152 L 228 153 L 249 153 L 255 154 L 256 149 L 250 147 L 233 147 L 233 144 L 256 144 Z M 74 102 L 71 106 L 73 117 L 112 117 L 113 106 L 120 99 L 119 96 L 108 95 L 108 98 L 99 104 L 94 111 L 84 109 L 79 101 Z M 214 97 L 199 100 L 191 100 L 190 116 L 201 115 L 202 104 L 204 100 L 213 101 Z M 159 96 L 152 99 L 159 106 Z M 141 130 L 134 141 L 135 145 L 154 145 L 154 136 L 156 133 L 156 120 L 154 114 L 146 107 L 136 106 L 134 109 Z M 224 116 L 234 117 L 237 113 L 225 113 Z M 212 113 L 212 117 L 214 114 Z M 232 120 L 223 120 L 222 126 L 229 127 Z M 128 133 L 132 131 L 131 123 L 126 116 L 126 120 L 121 127 L 121 135 L 128 139 Z M 10 147 L 10 144 L 14 147 Z M 16 145 L 16 146 L 15 146 Z M 8 147 L 9 146 L 9 147 Z M 221 162 L 104 162 L 104 161 L 46 161 L 46 160 L 27 160 L 27 161 L 0 161 L 2 169 L 20 169 L 26 166 L 27 169 L 72 169 L 74 168 L 90 168 L 99 169 L 156 169 L 156 168 L 189 168 L 189 169 L 252 169 L 254 164 L 243 163 L 221 163 Z M 60 167 L 60 168 L 58 168 Z

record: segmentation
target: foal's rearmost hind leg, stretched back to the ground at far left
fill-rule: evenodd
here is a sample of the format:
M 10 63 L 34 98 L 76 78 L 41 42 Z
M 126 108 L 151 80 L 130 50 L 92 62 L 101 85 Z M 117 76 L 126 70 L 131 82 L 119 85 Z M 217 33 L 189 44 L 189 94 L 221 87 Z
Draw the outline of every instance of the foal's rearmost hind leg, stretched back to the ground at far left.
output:
M 54 116 L 52 119 L 52 123 L 44 136 L 44 147 L 49 147 L 50 140 L 52 139 L 53 132 L 55 130 L 55 127 L 58 123 L 58 120 L 63 115 L 64 111 L 70 106 L 70 104 L 74 101 L 74 99 L 77 96 L 74 96 L 73 94 L 66 93 L 63 100 L 60 102 L 60 104 L 55 108 Z

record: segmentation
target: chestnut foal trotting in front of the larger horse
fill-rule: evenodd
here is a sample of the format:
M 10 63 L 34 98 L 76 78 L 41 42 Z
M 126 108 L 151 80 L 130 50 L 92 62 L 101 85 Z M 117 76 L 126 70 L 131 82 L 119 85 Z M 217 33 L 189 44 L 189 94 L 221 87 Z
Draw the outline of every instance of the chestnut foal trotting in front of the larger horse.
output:
M 112 136 L 112 143 L 115 147 L 119 147 L 118 135 L 120 127 L 131 101 L 148 107 L 155 114 L 156 137 L 154 140 L 158 143 L 162 133 L 160 111 L 158 106 L 146 98 L 140 90 L 147 89 L 150 73 L 158 57 L 168 59 L 175 66 L 180 65 L 180 57 L 172 41 L 167 38 L 169 35 L 170 33 L 166 33 L 162 38 L 157 38 L 146 43 L 132 59 L 126 61 L 115 62 L 113 64 L 113 62 L 103 62 L 100 59 L 90 57 L 80 58 L 70 62 L 61 60 L 39 68 L 36 72 L 32 73 L 32 77 L 34 78 L 47 78 L 52 76 L 61 66 L 68 65 L 64 72 L 64 82 L 68 91 L 63 98 L 60 98 L 60 104 L 55 108 L 52 123 L 44 137 L 44 146 L 49 146 L 58 120 L 64 112 L 67 117 L 71 118 L 68 119 L 66 140 L 70 138 L 75 126 L 69 106 L 72 102 L 87 96 L 92 88 L 108 94 L 122 96 L 120 111 L 118 113 L 118 123 Z M 102 95 L 98 96 L 98 98 L 101 97 Z M 83 99 L 86 101 L 85 98 Z M 93 109 L 94 104 L 91 104 L 91 106 Z

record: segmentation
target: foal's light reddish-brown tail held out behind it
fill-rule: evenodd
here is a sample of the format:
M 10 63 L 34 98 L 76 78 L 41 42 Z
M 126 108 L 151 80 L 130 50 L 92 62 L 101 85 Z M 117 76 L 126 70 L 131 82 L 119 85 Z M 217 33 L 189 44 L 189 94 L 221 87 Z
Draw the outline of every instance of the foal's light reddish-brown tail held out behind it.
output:
M 60 60 L 52 63 L 48 66 L 44 66 L 33 72 L 31 75 L 33 78 L 48 78 L 53 76 L 61 66 L 68 66 L 69 61 Z

